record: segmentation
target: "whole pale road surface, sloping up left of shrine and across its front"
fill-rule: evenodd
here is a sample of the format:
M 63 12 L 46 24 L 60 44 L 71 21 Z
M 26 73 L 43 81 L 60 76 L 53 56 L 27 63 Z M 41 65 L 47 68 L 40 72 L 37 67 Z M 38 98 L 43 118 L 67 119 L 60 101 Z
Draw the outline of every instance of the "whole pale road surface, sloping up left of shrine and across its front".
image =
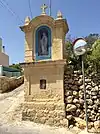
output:
M 24 87 L 0 94 L 0 134 L 76 134 L 65 128 L 51 128 L 46 125 L 21 121 L 21 108 L 24 99 Z M 16 112 L 17 108 L 17 112 Z

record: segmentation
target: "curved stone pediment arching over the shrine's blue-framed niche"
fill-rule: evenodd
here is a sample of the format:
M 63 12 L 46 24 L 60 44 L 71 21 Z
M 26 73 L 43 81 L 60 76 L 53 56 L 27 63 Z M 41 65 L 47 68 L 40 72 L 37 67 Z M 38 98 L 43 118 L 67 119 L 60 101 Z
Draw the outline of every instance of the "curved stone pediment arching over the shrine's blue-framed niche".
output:
M 63 25 L 65 33 L 69 30 L 66 19 L 54 19 L 53 17 L 48 15 L 40 15 L 33 18 L 32 20 L 28 20 L 28 22 L 26 22 L 24 26 L 20 26 L 20 28 L 23 32 L 27 33 L 31 32 L 40 25 L 47 25 L 51 28 L 55 28 L 57 26 L 60 27 L 60 25 Z

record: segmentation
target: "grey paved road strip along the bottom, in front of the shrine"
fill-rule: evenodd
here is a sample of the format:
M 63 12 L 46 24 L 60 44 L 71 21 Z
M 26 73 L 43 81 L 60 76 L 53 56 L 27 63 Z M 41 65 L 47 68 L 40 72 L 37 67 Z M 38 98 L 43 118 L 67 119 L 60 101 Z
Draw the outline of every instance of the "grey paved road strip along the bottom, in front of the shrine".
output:
M 74 134 L 65 129 L 50 129 L 50 128 L 25 128 L 22 126 L 3 126 L 0 127 L 0 134 Z

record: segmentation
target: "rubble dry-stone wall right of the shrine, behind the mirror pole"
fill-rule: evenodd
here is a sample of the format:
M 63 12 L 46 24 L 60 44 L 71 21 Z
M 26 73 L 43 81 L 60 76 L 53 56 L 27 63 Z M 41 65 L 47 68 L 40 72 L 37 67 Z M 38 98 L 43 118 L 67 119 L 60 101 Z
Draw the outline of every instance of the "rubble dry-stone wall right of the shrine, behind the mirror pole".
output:
M 74 120 L 76 117 L 79 117 L 85 120 L 84 91 L 81 72 L 71 72 L 67 70 L 64 79 L 67 119 Z M 95 122 L 100 121 L 100 74 L 89 74 L 85 77 L 85 82 L 88 121 L 91 122 L 93 126 Z

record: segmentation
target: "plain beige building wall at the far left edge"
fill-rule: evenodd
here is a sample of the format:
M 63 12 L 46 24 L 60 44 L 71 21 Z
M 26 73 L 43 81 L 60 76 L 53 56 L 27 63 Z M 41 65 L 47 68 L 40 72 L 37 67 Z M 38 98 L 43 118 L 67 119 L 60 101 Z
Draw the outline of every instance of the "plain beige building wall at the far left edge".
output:
M 0 65 L 9 66 L 9 56 L 5 53 L 0 53 Z

